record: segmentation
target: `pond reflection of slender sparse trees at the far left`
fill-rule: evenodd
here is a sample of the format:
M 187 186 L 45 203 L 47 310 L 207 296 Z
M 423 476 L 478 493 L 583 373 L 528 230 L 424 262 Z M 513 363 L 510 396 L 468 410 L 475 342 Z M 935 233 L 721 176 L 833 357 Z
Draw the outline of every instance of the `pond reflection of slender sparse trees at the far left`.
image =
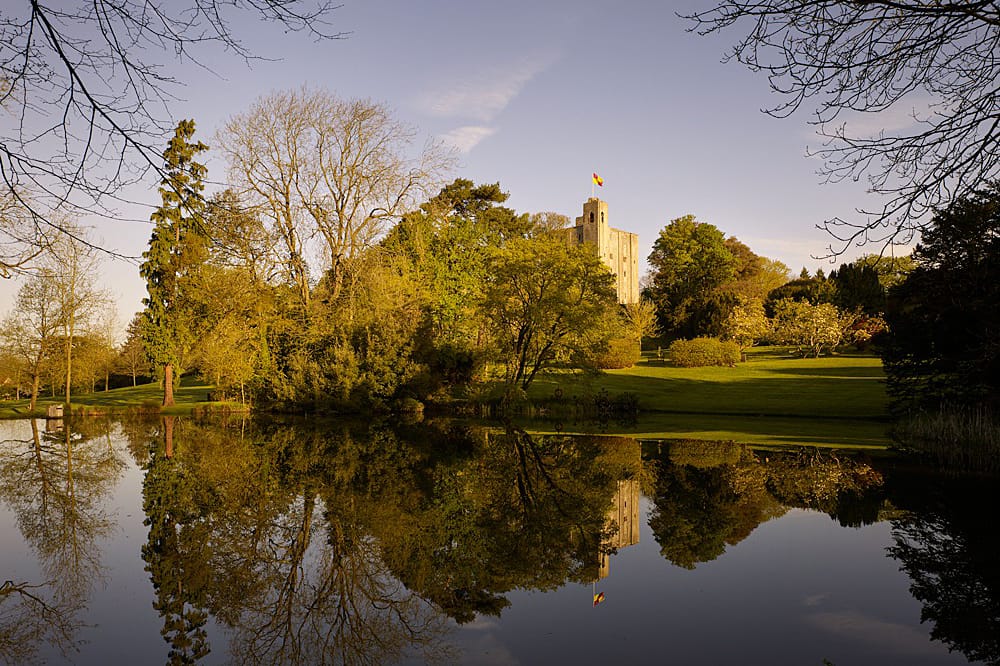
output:
M 0 588 L 0 660 L 24 663 L 43 644 L 64 654 L 103 580 L 99 542 L 112 529 L 105 504 L 125 468 L 107 422 L 41 430 L 0 445 L 0 499 L 35 551 L 41 582 Z

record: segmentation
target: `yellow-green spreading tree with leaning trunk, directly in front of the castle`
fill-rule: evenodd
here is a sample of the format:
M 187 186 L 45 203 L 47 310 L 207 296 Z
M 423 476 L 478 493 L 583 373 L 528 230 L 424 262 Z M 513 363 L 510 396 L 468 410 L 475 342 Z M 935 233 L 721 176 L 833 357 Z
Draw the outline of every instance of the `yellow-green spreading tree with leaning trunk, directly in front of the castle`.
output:
M 615 313 L 614 277 L 586 248 L 559 239 L 511 240 L 489 264 L 483 309 L 504 364 L 508 391 L 573 353 L 593 353 Z

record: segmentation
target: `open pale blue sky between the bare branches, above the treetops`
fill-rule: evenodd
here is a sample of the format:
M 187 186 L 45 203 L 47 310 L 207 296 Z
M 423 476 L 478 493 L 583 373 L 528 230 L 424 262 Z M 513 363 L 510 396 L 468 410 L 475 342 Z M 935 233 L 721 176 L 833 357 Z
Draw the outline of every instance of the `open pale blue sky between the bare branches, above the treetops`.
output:
M 453 176 L 499 181 L 518 211 L 575 217 L 596 171 L 611 224 L 639 234 L 642 257 L 667 222 L 692 213 L 793 272 L 829 272 L 810 257 L 831 240 L 815 225 L 872 202 L 861 184 L 820 185 L 818 163 L 805 156 L 820 143 L 806 115 L 760 112 L 777 101 L 766 79 L 720 63 L 735 35 L 685 32 L 675 12 L 706 4 L 347 0 L 332 15 L 347 39 L 313 43 L 251 24 L 247 43 L 278 60 L 247 68 L 219 57 L 209 63 L 218 75 L 173 67 L 187 85 L 171 111 L 194 118 L 211 144 L 229 116 L 272 90 L 371 98 L 421 138 L 450 141 L 462 151 Z M 220 160 L 208 164 L 212 180 L 225 178 Z M 132 196 L 158 203 L 152 182 Z M 97 227 L 133 255 L 150 231 L 143 222 Z M 136 267 L 109 262 L 104 278 L 127 321 L 144 294 Z M 0 283 L 0 310 L 15 290 Z

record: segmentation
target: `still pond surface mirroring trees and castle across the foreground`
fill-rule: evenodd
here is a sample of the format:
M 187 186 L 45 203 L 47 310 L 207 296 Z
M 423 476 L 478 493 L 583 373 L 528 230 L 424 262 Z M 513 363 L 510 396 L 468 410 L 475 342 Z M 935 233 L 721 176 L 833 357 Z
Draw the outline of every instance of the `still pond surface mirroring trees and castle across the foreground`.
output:
M 998 664 L 998 495 L 726 443 L 2 422 L 0 661 Z

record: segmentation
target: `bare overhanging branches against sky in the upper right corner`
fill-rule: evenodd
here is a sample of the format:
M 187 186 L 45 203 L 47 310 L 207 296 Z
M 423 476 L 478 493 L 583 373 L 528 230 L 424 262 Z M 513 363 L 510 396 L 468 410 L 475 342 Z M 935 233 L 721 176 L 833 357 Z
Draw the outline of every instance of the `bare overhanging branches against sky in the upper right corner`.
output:
M 1000 177 L 1000 6 L 985 0 L 722 0 L 683 16 L 699 34 L 748 27 L 724 60 L 768 75 L 786 117 L 809 108 L 826 181 L 880 197 L 820 225 L 828 257 L 907 243 L 931 211 Z M 898 130 L 855 136 L 853 112 L 911 105 Z

